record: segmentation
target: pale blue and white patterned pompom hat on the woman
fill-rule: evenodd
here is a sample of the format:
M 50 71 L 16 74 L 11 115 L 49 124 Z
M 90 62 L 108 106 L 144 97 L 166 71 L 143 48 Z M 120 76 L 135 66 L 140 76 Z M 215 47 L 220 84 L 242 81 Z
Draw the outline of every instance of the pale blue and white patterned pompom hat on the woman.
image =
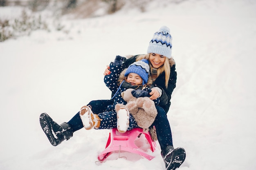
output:
M 172 39 L 170 29 L 166 26 L 161 27 L 149 42 L 147 53 L 160 54 L 167 58 L 171 58 Z

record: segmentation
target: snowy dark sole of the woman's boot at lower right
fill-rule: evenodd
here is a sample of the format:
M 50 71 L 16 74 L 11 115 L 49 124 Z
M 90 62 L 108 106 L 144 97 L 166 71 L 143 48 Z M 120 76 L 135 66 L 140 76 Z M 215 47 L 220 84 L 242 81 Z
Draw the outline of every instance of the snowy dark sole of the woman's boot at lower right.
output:
M 181 164 L 185 161 L 186 152 L 184 148 L 176 148 L 173 151 L 173 155 L 171 158 L 171 163 L 166 167 L 166 170 L 175 170 L 179 168 Z

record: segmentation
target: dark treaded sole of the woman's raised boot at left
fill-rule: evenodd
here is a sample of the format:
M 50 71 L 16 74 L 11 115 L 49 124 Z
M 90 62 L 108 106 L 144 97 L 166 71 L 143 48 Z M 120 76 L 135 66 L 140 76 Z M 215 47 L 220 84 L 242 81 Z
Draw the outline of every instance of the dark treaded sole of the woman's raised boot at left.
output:
M 46 113 L 42 113 L 40 115 L 40 125 L 41 125 L 41 128 L 43 129 L 43 131 L 45 132 L 50 143 L 53 146 L 57 146 L 59 144 L 59 141 L 58 141 L 58 139 L 56 139 L 56 137 L 53 134 L 52 124 L 51 124 L 51 121 L 49 120 L 48 115 Z

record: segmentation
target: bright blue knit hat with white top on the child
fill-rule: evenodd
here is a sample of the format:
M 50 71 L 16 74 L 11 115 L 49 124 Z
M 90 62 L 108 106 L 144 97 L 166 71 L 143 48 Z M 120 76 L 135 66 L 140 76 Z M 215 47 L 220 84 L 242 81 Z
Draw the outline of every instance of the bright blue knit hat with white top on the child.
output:
M 132 63 L 126 70 L 124 76 L 128 76 L 130 73 L 136 73 L 142 78 L 142 85 L 148 83 L 149 65 L 148 60 L 142 59 Z

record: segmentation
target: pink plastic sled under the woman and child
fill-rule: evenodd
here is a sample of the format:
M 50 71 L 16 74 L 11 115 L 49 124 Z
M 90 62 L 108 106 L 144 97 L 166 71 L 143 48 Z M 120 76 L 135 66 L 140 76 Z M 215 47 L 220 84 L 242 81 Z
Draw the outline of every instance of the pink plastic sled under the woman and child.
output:
M 150 144 L 151 151 L 154 152 L 156 149 L 156 143 L 152 141 L 149 132 L 143 132 L 142 128 L 134 128 L 126 131 L 125 133 L 120 133 L 117 128 L 115 128 L 109 133 L 106 149 L 98 156 L 99 161 L 106 159 L 113 151 L 119 151 L 119 153 L 120 151 L 132 152 L 139 154 L 148 160 L 153 159 L 153 156 L 147 154 L 144 150 L 135 145 L 135 139 L 140 137 L 141 134 L 145 135 L 148 143 Z

